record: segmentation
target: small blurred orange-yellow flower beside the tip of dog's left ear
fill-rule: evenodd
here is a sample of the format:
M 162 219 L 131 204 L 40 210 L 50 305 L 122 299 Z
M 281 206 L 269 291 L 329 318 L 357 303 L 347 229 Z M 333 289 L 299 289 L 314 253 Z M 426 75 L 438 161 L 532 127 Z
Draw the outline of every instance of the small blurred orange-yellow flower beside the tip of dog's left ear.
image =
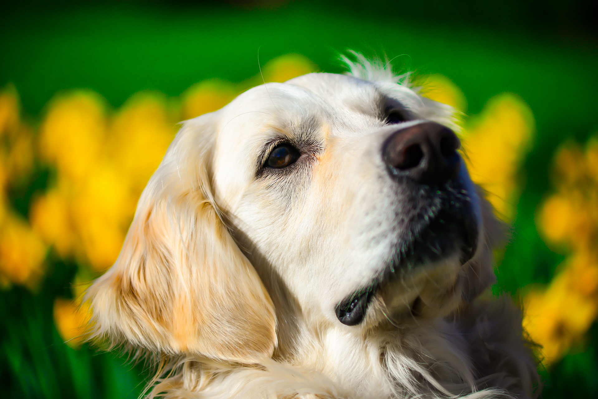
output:
M 77 306 L 75 301 L 57 298 L 54 300 L 54 325 L 60 337 L 71 348 L 78 349 L 84 341 L 89 307 Z

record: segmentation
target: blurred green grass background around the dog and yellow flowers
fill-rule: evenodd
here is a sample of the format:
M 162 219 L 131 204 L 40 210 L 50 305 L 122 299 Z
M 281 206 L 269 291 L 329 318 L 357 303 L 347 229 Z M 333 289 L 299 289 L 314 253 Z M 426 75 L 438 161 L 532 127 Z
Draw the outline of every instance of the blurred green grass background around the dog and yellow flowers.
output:
M 539 206 L 555 191 L 553 158 L 568 140 L 598 132 L 596 8 L 581 1 L 345 2 L 20 2 L 0 13 L 0 87 L 13 86 L 23 123 L 36 129 L 51 99 L 89 89 L 119 109 L 134 93 L 176 99 L 205 80 L 249 84 L 284 54 L 343 72 L 338 54 L 396 57 L 398 69 L 441 74 L 466 99 L 466 115 L 514 93 L 529 106 L 535 138 L 518 166 L 511 239 L 499 254 L 495 294 L 550 284 L 570 246 L 547 245 Z M 7 188 L 11 209 L 28 218 L 32 199 L 56 172 L 35 162 Z M 581 210 L 580 210 L 581 212 Z M 591 236 L 590 240 L 596 239 Z M 596 242 L 598 244 L 598 242 Z M 590 246 L 593 242 L 590 241 Z M 550 247 L 550 248 L 549 248 Z M 14 398 L 135 398 L 143 364 L 63 343 L 54 300 L 74 295 L 76 258 L 50 249 L 35 289 L 0 291 L 0 374 Z M 592 294 L 590 300 L 596 300 Z M 598 325 L 541 367 L 545 398 L 598 397 Z

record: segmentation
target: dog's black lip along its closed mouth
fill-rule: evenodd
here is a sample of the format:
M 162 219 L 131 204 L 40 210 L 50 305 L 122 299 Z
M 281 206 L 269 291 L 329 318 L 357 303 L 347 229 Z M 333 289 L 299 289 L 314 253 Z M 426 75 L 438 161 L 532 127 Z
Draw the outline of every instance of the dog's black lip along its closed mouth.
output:
M 460 252 L 461 264 L 465 264 L 475 254 L 478 240 L 478 222 L 471 206 L 471 199 L 465 190 L 448 190 L 442 206 L 432 216 L 426 209 L 427 217 L 419 217 L 403 237 L 399 237 L 396 251 L 380 276 L 368 285 L 347 296 L 335 307 L 338 321 L 345 325 L 357 325 L 364 318 L 374 295 L 383 284 L 393 281 L 419 266 L 446 258 Z M 438 193 L 439 191 L 437 191 Z

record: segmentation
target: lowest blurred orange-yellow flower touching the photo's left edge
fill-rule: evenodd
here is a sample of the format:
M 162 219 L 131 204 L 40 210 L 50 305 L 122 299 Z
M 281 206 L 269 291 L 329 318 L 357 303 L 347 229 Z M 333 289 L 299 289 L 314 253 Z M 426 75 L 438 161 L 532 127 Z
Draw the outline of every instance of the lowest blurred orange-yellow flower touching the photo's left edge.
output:
M 7 214 L 0 226 L 0 275 L 33 287 L 42 274 L 45 245 L 26 221 Z

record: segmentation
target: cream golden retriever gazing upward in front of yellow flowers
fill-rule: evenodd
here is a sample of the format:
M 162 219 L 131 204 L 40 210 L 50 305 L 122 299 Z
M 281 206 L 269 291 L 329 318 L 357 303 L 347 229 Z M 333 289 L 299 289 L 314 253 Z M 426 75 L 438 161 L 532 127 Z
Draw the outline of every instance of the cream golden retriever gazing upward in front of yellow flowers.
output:
M 380 62 L 254 87 L 185 121 L 90 339 L 153 354 L 150 397 L 534 397 L 521 316 L 478 298 L 501 224 L 453 109 Z

